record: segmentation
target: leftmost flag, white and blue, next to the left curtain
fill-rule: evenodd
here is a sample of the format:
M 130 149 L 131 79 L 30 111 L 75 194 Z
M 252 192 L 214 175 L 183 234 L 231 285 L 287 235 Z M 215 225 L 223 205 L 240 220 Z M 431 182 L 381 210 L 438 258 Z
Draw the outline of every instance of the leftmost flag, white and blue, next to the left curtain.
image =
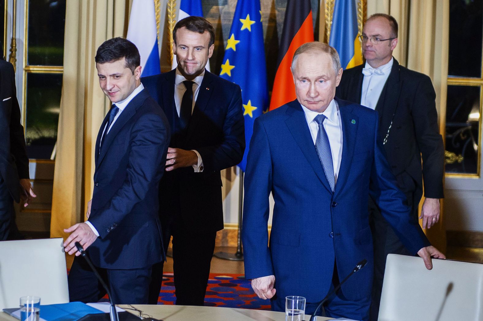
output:
M 160 74 L 156 13 L 153 0 L 132 1 L 127 38 L 138 47 L 141 55 L 141 76 Z

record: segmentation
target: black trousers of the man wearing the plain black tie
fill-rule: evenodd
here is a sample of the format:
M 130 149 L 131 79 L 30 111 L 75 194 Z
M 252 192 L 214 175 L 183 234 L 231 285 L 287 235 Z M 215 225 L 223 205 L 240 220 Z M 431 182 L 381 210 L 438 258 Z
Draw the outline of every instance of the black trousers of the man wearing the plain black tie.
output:
M 171 236 L 173 237 L 173 277 L 176 304 L 203 306 L 216 232 L 192 232 L 186 231 L 182 224 L 166 224 L 163 226 L 165 252 L 168 250 Z M 149 304 L 157 304 L 163 279 L 163 263 L 160 262 L 153 266 Z

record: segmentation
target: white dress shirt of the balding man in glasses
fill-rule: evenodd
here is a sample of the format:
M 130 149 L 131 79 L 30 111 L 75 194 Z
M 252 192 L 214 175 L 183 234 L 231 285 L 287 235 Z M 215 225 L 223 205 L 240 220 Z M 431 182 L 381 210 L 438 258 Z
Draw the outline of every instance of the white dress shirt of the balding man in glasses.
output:
M 394 58 L 391 58 L 389 62 L 378 68 L 372 68 L 369 62 L 366 61 L 366 65 L 362 72 L 367 69 L 372 72 L 372 74 L 364 74 L 364 80 L 362 80 L 362 93 L 361 93 L 361 105 L 369 107 L 371 109 L 376 109 L 379 97 L 383 92 L 384 85 L 391 73 L 391 68 L 394 62 Z

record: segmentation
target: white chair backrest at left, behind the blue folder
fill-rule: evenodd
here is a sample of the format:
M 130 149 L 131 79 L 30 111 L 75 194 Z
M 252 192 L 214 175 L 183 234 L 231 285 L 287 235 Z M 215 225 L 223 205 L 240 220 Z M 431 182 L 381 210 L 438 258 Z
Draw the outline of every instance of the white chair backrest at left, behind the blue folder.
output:
M 15 308 L 25 295 L 41 304 L 69 302 L 63 240 L 0 241 L 0 311 Z

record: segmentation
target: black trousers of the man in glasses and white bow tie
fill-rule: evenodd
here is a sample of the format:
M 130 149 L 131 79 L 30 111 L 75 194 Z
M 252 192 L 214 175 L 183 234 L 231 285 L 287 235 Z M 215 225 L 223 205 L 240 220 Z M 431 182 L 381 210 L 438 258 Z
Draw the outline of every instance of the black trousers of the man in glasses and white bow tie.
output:
M 405 193 L 408 205 L 412 208 L 412 215 L 418 219 L 419 201 L 422 193 L 419 190 Z M 384 219 L 375 202 L 369 197 L 369 224 L 374 245 L 374 279 L 372 281 L 372 302 L 370 305 L 370 321 L 377 321 L 379 305 L 383 290 L 384 269 L 386 268 L 387 254 L 413 255 L 399 241 L 393 228 Z

